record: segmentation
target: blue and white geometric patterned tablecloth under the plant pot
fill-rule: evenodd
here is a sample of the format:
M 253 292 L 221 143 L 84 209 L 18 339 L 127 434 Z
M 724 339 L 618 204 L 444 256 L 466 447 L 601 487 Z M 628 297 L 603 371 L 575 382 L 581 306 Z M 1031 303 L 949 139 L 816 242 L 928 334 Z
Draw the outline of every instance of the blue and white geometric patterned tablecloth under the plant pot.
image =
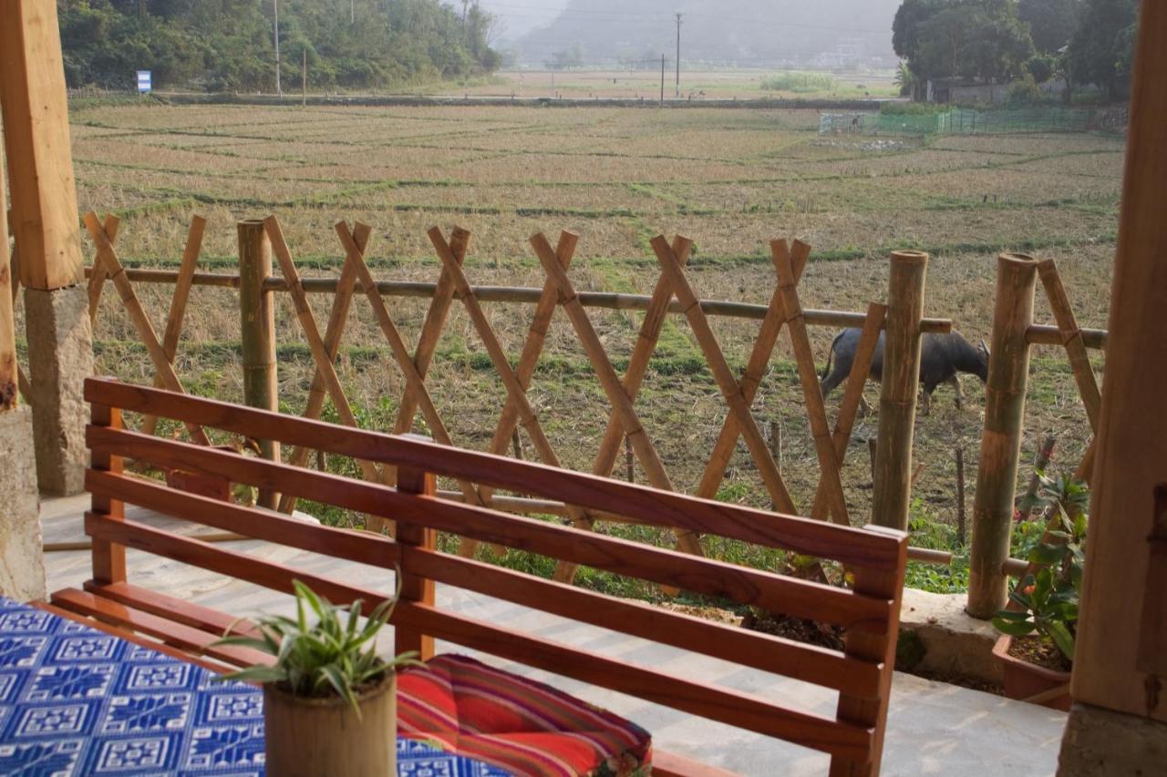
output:
M 264 774 L 264 696 L 0 596 L 0 775 Z M 509 772 L 397 741 L 398 775 Z

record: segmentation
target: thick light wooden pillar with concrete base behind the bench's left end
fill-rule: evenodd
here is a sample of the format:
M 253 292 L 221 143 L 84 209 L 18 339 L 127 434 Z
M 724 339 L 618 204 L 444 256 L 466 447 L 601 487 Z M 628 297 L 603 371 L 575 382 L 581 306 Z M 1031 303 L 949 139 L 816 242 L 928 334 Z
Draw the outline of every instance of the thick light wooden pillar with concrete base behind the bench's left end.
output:
M 82 382 L 92 373 L 57 8 L 0 2 L 0 105 L 20 246 L 37 481 L 76 494 L 85 469 Z M 7 249 L 7 243 L 5 243 Z

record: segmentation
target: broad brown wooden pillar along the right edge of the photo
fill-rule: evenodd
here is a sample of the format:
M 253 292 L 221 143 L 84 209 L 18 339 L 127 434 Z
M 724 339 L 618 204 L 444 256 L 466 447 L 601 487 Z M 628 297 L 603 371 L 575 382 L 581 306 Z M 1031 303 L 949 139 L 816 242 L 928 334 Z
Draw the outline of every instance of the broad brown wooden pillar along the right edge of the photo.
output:
M 1153 774 L 1167 761 L 1167 4 L 1140 13 L 1075 706 L 1058 768 L 1075 777 Z

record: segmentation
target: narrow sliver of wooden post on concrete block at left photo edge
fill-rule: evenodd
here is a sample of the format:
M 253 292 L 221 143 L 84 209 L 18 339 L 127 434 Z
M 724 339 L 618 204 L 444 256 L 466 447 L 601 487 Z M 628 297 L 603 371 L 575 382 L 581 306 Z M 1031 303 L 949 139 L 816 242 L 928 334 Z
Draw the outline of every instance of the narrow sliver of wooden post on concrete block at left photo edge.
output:
M 0 154 L 0 594 L 43 598 L 44 554 L 33 457 L 33 416 L 19 405 L 16 337 L 12 313 L 15 279 L 8 266 L 8 208 Z

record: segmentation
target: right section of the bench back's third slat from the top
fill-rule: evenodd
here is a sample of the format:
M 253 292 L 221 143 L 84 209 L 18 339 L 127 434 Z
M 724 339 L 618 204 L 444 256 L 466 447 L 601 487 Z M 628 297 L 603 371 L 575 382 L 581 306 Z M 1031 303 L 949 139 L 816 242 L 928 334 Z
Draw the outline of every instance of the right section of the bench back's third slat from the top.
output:
M 675 648 L 874 698 L 882 666 L 840 652 L 459 559 L 406 548 L 403 572 Z

